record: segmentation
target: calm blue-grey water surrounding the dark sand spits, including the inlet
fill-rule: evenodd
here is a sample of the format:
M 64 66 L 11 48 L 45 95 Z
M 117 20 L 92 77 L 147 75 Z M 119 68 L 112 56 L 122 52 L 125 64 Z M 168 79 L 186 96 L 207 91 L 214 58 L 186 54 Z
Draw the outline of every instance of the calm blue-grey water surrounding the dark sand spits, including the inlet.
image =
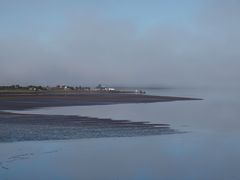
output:
M 45 108 L 167 123 L 185 134 L 0 144 L 0 179 L 240 179 L 238 89 L 148 91 L 203 101 Z

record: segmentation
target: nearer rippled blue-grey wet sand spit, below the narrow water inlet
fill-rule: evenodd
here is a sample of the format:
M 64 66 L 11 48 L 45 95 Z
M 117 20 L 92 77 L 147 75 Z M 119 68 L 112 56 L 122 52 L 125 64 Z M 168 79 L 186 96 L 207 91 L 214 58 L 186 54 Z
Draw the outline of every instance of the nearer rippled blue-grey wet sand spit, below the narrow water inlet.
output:
M 80 116 L 0 113 L 0 142 L 174 134 L 168 124 Z

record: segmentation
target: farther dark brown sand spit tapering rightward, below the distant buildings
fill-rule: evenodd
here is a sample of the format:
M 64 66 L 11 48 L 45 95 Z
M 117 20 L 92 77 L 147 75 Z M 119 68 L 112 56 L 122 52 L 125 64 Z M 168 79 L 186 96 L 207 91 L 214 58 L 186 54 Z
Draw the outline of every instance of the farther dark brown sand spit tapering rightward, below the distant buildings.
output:
M 186 100 L 202 100 L 199 98 L 153 96 L 140 94 L 85 93 L 68 95 L 32 95 L 32 94 L 0 94 L 0 110 L 26 110 L 43 107 L 89 106 L 125 103 L 154 103 Z

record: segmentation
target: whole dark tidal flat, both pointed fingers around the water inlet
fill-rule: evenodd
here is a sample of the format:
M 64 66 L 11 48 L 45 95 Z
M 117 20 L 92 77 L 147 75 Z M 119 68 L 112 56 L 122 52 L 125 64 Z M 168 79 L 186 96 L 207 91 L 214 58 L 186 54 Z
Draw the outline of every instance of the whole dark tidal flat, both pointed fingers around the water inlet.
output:
M 137 137 L 183 133 L 169 124 L 132 122 L 73 115 L 4 112 L 43 107 L 153 103 L 196 98 L 136 94 L 0 95 L 0 143 L 106 137 Z

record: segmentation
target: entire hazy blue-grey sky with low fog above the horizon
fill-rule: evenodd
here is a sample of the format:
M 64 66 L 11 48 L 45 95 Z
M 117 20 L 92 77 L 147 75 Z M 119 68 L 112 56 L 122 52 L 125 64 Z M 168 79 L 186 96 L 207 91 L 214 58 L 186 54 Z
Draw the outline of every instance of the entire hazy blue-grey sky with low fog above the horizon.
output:
M 238 0 L 0 0 L 0 84 L 235 86 Z

